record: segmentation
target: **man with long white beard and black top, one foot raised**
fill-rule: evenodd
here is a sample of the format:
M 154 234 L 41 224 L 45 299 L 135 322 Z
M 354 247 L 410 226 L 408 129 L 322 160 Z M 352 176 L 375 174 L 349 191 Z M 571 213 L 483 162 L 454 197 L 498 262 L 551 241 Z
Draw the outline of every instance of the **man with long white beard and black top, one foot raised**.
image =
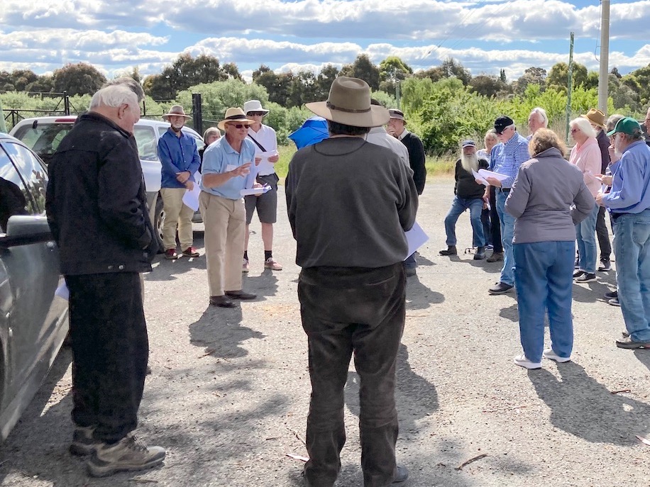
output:
M 441 250 L 441 255 L 456 255 L 456 221 L 458 217 L 469 208 L 470 221 L 474 230 L 473 247 L 477 247 L 474 260 L 485 259 L 485 235 L 480 213 L 483 210 L 483 192 L 485 186 L 475 181 L 472 171 L 487 169 L 487 159 L 479 159 L 476 155 L 476 145 L 473 140 L 463 140 L 461 144 L 461 158 L 456 161 L 456 184 L 453 186 L 451 208 L 445 218 L 445 232 L 447 234 L 447 248 Z

